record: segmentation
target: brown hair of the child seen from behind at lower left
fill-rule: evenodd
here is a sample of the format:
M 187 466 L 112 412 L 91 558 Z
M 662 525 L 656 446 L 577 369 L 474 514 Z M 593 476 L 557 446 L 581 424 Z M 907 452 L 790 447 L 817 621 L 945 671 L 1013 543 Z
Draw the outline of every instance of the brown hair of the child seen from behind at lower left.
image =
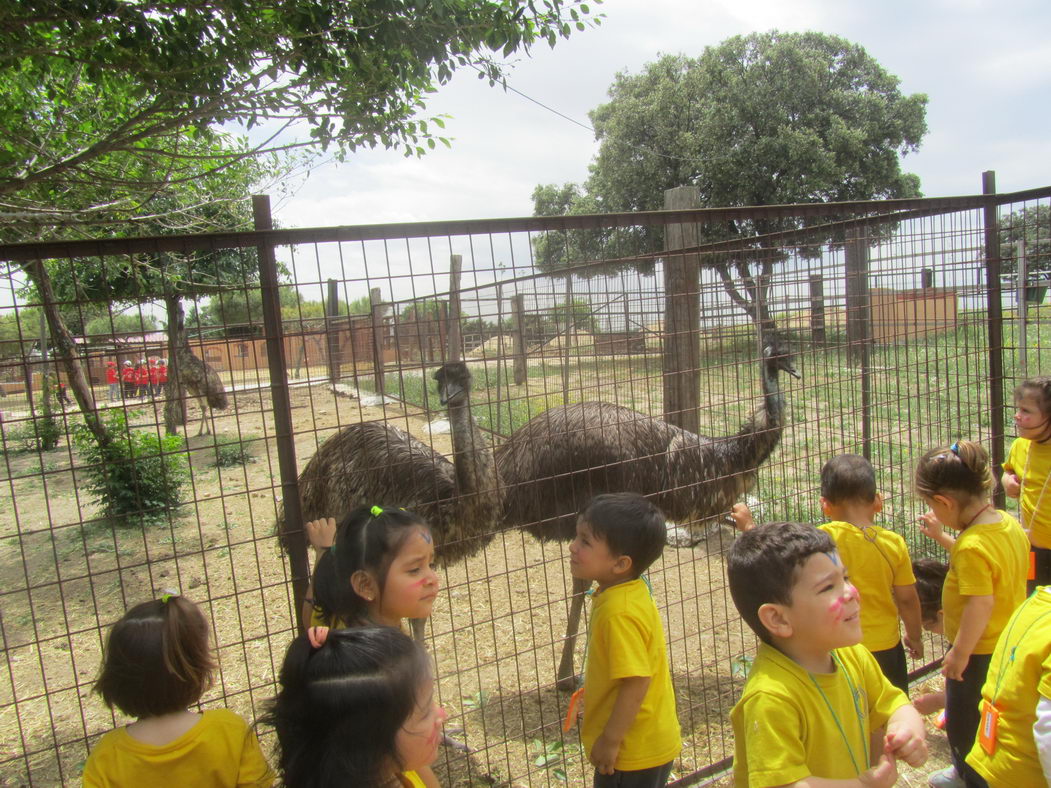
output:
M 181 711 L 211 686 L 207 619 L 185 597 L 165 599 L 136 605 L 106 638 L 94 689 L 130 717 Z

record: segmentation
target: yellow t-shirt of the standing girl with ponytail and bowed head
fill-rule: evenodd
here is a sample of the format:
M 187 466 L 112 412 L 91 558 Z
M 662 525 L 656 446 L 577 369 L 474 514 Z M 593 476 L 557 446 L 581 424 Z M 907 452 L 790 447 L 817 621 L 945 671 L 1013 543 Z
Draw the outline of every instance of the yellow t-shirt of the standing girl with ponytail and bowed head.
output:
M 1007 620 L 1026 598 L 1029 540 L 1017 520 L 1007 512 L 997 514 L 1000 522 L 971 525 L 956 537 L 942 588 L 945 637 L 950 641 L 960 630 L 965 597 L 992 595 L 992 616 L 974 654 L 992 654 Z

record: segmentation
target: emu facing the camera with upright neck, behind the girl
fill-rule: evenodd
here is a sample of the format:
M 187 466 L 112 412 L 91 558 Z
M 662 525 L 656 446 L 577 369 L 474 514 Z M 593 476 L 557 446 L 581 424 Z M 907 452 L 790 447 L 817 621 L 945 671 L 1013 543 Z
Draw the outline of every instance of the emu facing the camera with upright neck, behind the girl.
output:
M 489 441 L 471 414 L 471 372 L 456 361 L 439 367 L 434 379 L 449 413 L 453 460 L 385 421 L 348 424 L 322 443 L 300 474 L 304 521 L 339 520 L 362 504 L 404 506 L 431 526 L 442 564 L 489 544 L 500 521 L 502 490 Z M 282 516 L 283 540 L 286 527 Z M 413 622 L 417 639 L 423 625 Z

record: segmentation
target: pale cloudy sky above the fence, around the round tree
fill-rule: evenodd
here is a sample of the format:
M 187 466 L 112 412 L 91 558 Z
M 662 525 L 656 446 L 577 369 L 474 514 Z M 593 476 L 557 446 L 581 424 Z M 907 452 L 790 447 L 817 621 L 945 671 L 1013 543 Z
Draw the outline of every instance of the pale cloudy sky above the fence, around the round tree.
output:
M 508 83 L 588 125 L 618 71 L 696 57 L 735 35 L 818 30 L 861 44 L 905 94 L 928 96 L 928 133 L 905 158 L 927 196 L 1051 184 L 1051 3 L 1047 0 L 607 0 L 601 24 L 512 56 Z M 582 182 L 594 134 L 473 72 L 429 103 L 451 116 L 450 149 L 423 159 L 360 151 L 316 167 L 274 206 L 284 227 L 528 216 L 537 184 Z

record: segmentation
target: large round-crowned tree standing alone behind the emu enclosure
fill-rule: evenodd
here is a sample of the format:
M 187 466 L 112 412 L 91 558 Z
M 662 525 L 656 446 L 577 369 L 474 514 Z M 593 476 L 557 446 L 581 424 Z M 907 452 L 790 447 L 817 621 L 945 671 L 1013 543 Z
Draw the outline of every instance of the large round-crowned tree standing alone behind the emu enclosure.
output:
M 617 75 L 609 103 L 590 113 L 600 147 L 586 183 L 538 187 L 535 213 L 559 200 L 562 213 L 658 210 L 665 190 L 684 185 L 696 186 L 707 207 L 918 196 L 920 181 L 902 171 L 900 157 L 915 150 L 927 130 L 927 99 L 903 96 L 898 84 L 861 46 L 819 33 L 757 33 L 696 59 L 664 56 L 640 74 Z M 707 256 L 702 265 L 718 271 L 749 316 L 758 312 L 769 324 L 772 266 L 794 250 L 762 236 L 805 222 L 703 227 L 701 243 L 737 240 L 741 251 Z M 594 232 L 573 232 L 579 237 L 557 249 L 538 244 L 540 265 L 552 270 L 581 260 L 575 254 L 589 253 Z M 619 257 L 659 251 L 662 237 L 659 228 L 627 228 L 603 243 L 603 256 Z M 819 246 L 811 239 L 795 251 L 805 257 Z

